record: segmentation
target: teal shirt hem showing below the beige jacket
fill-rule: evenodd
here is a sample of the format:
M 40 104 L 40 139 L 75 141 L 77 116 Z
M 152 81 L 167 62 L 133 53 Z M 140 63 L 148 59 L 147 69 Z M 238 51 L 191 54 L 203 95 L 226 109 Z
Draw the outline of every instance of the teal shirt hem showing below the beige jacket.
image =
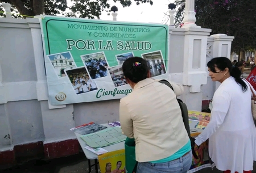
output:
M 181 149 L 179 151 L 177 151 L 176 153 L 172 154 L 171 156 L 164 158 L 164 159 L 160 159 L 158 161 L 152 161 L 151 163 L 165 163 L 165 162 L 170 162 L 173 161 L 177 158 L 182 157 L 184 154 L 188 153 L 188 151 L 191 150 L 191 142 L 190 140 L 188 140 L 188 143 L 185 144 L 183 147 L 181 147 Z

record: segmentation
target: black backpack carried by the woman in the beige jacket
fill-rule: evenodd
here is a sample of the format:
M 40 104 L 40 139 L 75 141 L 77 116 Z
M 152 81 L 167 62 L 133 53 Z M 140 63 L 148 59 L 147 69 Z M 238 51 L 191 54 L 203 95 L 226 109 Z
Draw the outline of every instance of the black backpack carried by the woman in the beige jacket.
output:
M 167 85 L 168 87 L 170 87 L 172 89 L 172 91 L 174 91 L 174 88 L 171 86 L 171 84 L 167 80 L 162 79 L 158 82 Z M 187 130 L 188 137 L 191 141 L 192 154 L 196 159 L 198 159 L 198 157 L 196 155 L 196 152 L 195 152 L 195 149 L 194 149 L 194 147 L 195 147 L 195 138 L 192 138 L 191 134 L 190 134 L 187 105 L 185 103 L 183 103 L 182 100 L 180 100 L 178 98 L 176 98 L 176 99 L 177 99 L 177 102 L 179 103 L 179 106 L 180 106 L 180 109 L 181 109 L 181 115 L 182 115 L 183 123 L 185 125 L 185 129 Z

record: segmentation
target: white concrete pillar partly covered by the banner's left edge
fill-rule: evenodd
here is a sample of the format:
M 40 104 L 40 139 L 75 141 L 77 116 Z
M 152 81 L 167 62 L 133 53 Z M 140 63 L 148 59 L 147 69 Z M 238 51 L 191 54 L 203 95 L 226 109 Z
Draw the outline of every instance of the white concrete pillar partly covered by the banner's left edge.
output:
M 38 101 L 42 111 L 42 121 L 44 130 L 44 145 L 52 142 L 75 139 L 75 134 L 69 130 L 75 126 L 73 121 L 73 104 L 52 106 L 48 102 L 48 86 L 46 78 L 46 70 L 44 68 L 44 53 L 42 47 L 42 32 L 40 28 L 39 19 L 27 18 L 26 21 L 31 28 L 32 43 L 34 48 L 36 75 L 38 81 L 36 82 L 36 91 Z M 50 156 L 49 156 L 50 157 Z

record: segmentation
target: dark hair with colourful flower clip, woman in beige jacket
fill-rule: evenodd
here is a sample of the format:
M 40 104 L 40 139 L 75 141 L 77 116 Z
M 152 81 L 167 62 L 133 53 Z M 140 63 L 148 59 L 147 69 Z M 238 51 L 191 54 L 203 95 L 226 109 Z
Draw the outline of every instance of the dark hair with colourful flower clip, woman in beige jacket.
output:
M 136 65 L 136 63 L 138 64 Z M 138 83 L 147 78 L 148 65 L 147 61 L 141 57 L 130 57 L 123 62 L 123 75 L 131 82 Z

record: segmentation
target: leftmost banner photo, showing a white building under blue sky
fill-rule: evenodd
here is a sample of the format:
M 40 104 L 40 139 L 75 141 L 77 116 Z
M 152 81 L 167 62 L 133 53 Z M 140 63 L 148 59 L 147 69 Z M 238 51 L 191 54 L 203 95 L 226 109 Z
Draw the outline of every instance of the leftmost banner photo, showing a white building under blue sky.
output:
M 65 70 L 76 68 L 75 61 L 70 52 L 62 52 L 56 54 L 49 54 L 49 60 L 55 69 L 58 77 L 65 77 Z

